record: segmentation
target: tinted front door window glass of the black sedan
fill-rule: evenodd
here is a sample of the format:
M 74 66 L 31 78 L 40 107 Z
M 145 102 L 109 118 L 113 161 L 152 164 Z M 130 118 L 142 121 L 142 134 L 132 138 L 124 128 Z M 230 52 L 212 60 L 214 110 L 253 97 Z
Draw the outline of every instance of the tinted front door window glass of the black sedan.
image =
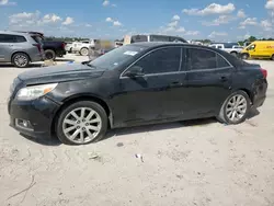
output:
M 145 73 L 162 73 L 178 71 L 181 61 L 181 48 L 161 48 L 155 50 L 139 61 L 135 66 L 144 69 Z

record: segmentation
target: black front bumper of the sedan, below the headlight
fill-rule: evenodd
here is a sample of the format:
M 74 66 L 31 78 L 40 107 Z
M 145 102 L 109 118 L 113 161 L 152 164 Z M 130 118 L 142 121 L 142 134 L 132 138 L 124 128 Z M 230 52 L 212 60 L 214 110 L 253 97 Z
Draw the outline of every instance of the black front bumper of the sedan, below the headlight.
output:
M 46 96 L 33 101 L 9 101 L 10 126 L 26 136 L 39 138 L 50 137 L 54 116 L 59 108 Z M 27 121 L 31 127 L 23 127 L 18 121 Z

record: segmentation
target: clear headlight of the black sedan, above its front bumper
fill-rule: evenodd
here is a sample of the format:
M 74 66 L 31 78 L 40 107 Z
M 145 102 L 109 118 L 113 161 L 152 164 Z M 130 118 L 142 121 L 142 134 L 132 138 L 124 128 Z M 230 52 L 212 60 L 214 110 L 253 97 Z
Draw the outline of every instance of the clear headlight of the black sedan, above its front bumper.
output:
M 58 83 L 41 84 L 22 88 L 16 94 L 18 100 L 34 100 L 53 91 Z

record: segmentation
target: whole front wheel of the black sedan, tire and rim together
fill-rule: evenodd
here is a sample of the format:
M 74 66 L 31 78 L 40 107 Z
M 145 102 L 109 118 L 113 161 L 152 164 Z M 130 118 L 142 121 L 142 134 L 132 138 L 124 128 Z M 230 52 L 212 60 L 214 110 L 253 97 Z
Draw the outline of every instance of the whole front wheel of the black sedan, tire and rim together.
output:
M 81 118 L 82 108 L 84 110 L 83 118 Z M 71 114 L 73 112 L 78 119 Z M 93 112 L 94 114 L 89 117 L 89 114 Z M 94 123 L 89 123 L 89 119 L 93 119 Z M 66 145 L 87 145 L 103 139 L 107 131 L 107 125 L 106 112 L 100 104 L 91 101 L 80 101 L 70 104 L 60 112 L 56 124 L 56 135 Z M 92 130 L 94 128 L 98 130 Z M 66 129 L 67 131 L 65 131 Z M 91 134 L 95 137 L 91 136 Z M 73 135 L 76 136 L 73 137 Z

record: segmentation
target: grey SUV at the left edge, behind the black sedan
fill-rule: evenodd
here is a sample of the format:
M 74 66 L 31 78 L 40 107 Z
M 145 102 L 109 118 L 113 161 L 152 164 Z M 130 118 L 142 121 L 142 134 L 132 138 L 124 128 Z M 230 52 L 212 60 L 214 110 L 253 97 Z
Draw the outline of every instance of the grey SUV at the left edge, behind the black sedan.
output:
M 0 62 L 12 62 L 15 67 L 24 68 L 30 62 L 41 61 L 43 56 L 38 35 L 0 31 Z

